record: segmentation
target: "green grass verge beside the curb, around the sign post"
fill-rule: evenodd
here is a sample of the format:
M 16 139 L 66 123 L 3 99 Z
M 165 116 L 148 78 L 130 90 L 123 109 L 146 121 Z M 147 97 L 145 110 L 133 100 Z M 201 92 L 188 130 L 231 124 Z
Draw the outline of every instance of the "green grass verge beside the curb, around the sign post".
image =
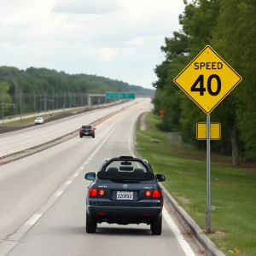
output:
M 206 153 L 188 145 L 166 143 L 158 131 L 160 119 L 146 117 L 146 131 L 137 124 L 137 152 L 148 159 L 154 172 L 166 175 L 164 186 L 191 218 L 205 230 L 207 208 Z M 160 143 L 152 143 L 156 138 Z M 225 254 L 256 255 L 256 173 L 230 166 L 215 156 L 211 164 L 212 234 L 207 235 Z M 220 161 L 218 161 L 220 160 Z M 225 158 L 227 160 L 227 158 Z M 231 160 L 230 160 L 231 162 Z

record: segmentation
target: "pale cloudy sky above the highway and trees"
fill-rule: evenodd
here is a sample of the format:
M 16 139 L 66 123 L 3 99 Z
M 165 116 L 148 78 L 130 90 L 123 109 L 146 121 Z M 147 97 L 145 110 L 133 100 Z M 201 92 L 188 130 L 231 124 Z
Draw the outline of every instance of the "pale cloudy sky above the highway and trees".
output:
M 48 67 L 152 88 L 183 0 L 0 0 L 0 66 Z

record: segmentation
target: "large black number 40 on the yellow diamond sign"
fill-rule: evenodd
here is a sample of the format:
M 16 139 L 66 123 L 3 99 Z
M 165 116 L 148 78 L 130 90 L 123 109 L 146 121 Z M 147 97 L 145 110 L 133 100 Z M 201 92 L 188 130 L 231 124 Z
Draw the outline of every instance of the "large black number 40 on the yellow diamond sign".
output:
M 212 79 L 217 80 L 217 89 L 215 91 L 212 90 Z M 199 84 L 199 87 L 196 85 Z M 218 96 L 221 90 L 221 80 L 217 74 L 212 74 L 207 79 L 207 89 L 204 87 L 204 76 L 200 75 L 198 79 L 195 80 L 195 83 L 191 86 L 191 91 L 200 92 L 200 96 L 204 96 L 204 92 L 207 90 L 211 96 Z

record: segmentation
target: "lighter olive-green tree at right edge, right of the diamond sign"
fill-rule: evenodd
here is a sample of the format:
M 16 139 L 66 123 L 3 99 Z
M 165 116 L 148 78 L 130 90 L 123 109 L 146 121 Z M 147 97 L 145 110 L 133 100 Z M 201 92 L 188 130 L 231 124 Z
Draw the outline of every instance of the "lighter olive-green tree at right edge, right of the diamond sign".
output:
M 231 8 L 230 8 L 231 7 Z M 243 81 L 224 102 L 230 117 L 230 137 L 233 164 L 238 163 L 238 154 L 247 160 L 256 160 L 255 125 L 255 72 L 254 65 L 256 18 L 253 10 L 256 3 L 250 0 L 224 0 L 218 16 L 218 25 L 213 33 L 212 44 L 219 53 L 243 77 Z M 233 113 L 232 113 L 233 111 Z M 245 143 L 245 151 L 243 143 Z

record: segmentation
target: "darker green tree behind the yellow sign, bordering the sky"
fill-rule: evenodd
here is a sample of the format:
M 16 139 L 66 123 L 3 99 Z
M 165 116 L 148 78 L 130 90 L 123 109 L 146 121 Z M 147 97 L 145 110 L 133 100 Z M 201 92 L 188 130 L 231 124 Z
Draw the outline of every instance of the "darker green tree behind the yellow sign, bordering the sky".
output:
M 183 15 L 179 17 L 183 29 L 181 32 L 174 32 L 172 38 L 166 38 L 166 45 L 161 47 L 166 54 L 166 61 L 155 68 L 158 77 L 153 84 L 157 88 L 155 109 L 159 111 L 163 108 L 166 112 L 161 128 L 169 131 L 179 129 L 183 141 L 194 144 L 197 148 L 206 148 L 205 142 L 195 138 L 196 123 L 206 121 L 206 114 L 177 89 L 172 80 L 206 44 L 215 43 L 212 35 L 218 26 L 220 3 L 219 0 L 185 2 Z M 212 142 L 212 150 L 221 154 L 233 154 L 233 164 L 238 164 L 238 147 L 241 145 L 242 148 L 242 143 L 237 131 L 234 96 L 222 102 L 211 116 L 212 121 L 221 122 L 223 135 L 221 141 Z

